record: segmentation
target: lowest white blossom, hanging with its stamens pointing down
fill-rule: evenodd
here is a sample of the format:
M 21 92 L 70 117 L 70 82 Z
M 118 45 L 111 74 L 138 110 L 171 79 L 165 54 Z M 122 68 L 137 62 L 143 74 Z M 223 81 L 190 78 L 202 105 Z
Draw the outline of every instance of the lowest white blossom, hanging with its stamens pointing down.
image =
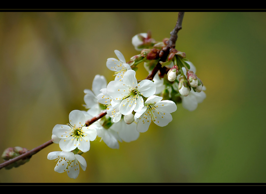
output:
M 47 159 L 56 159 L 57 164 L 54 167 L 55 172 L 62 173 L 66 171 L 67 175 L 74 179 L 79 175 L 79 165 L 83 171 L 85 171 L 87 167 L 85 159 L 73 152 L 50 152 L 47 155 Z

